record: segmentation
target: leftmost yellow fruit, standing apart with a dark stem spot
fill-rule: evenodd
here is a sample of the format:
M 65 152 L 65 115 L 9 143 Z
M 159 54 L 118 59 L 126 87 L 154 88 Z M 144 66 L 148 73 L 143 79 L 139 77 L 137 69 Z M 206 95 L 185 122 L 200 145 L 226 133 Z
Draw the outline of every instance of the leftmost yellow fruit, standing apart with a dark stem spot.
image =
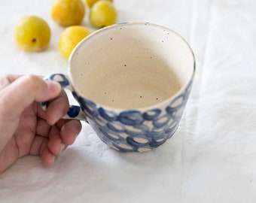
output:
M 50 42 L 50 27 L 40 17 L 23 17 L 16 25 L 14 39 L 20 49 L 40 52 Z

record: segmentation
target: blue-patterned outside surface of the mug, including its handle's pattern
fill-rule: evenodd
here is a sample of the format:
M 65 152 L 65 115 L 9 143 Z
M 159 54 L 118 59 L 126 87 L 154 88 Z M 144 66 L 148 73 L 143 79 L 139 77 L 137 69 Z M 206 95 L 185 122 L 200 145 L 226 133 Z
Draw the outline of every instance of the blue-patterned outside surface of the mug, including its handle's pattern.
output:
M 192 81 L 172 102 L 148 111 L 113 111 L 78 95 L 70 88 L 64 74 L 53 74 L 50 80 L 61 82 L 68 87 L 77 99 L 80 107 L 72 106 L 68 115 L 75 118 L 82 110 L 90 126 L 99 138 L 109 147 L 123 152 L 141 152 L 159 147 L 172 137 L 178 128 Z

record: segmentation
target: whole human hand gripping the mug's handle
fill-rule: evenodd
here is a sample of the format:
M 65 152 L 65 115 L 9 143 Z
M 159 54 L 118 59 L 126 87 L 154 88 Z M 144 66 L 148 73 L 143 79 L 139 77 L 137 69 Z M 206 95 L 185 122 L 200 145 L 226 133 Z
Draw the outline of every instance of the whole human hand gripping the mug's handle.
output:
M 38 102 L 48 100 L 43 111 Z M 66 93 L 56 82 L 38 76 L 0 77 L 0 173 L 28 154 L 53 165 L 81 132 L 80 121 L 61 119 L 68 108 Z

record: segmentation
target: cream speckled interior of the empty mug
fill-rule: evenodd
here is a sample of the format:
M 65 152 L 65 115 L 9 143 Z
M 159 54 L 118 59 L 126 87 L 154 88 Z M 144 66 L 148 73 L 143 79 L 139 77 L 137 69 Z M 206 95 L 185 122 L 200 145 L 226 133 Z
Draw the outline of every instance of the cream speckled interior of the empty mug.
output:
M 151 23 L 106 27 L 81 41 L 69 60 L 77 92 L 110 108 L 148 108 L 172 98 L 194 75 L 194 54 Z

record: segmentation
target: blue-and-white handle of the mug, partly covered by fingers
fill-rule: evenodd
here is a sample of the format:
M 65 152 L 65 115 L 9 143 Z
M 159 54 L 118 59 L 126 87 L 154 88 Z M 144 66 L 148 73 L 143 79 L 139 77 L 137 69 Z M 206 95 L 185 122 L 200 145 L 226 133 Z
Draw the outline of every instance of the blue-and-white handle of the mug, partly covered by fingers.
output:
M 74 89 L 71 85 L 69 77 L 65 74 L 50 74 L 50 76 L 44 77 L 44 80 L 56 81 L 60 84 L 62 89 L 69 89 L 71 92 L 74 92 Z M 41 102 L 40 105 L 41 105 L 41 108 L 44 111 L 46 111 L 48 102 Z M 84 120 L 87 122 L 87 119 L 86 119 L 81 107 L 77 106 L 77 105 L 69 105 L 69 111 L 62 118 L 69 119 L 69 120 L 72 120 L 72 119 Z

